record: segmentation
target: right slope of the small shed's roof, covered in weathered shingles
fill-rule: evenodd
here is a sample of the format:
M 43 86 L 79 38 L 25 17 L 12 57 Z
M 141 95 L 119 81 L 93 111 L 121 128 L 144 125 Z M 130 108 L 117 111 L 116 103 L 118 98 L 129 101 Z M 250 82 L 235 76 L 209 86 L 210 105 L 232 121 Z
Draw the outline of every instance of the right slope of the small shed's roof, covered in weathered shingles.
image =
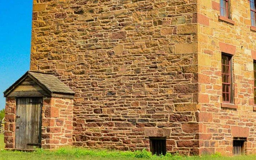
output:
M 28 74 L 32 75 L 51 92 L 75 94 L 74 91 L 72 91 L 68 86 L 66 86 L 62 81 L 52 74 L 38 73 L 33 71 L 28 71 Z

